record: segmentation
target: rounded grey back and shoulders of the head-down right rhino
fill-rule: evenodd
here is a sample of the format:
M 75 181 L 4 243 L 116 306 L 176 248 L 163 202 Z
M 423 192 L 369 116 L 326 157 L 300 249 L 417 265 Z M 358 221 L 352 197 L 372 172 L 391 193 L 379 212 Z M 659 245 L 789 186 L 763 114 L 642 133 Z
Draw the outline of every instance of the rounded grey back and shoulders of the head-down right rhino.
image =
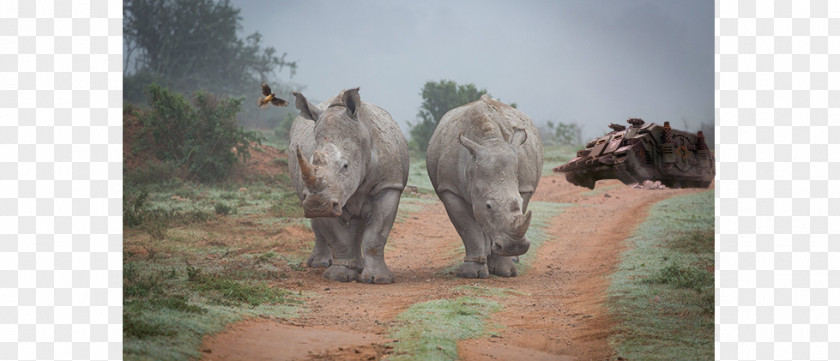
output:
M 509 141 L 515 128 L 524 129 L 528 137 L 519 152 L 519 190 L 533 192 L 543 163 L 537 128 L 525 113 L 487 96 L 452 109 L 441 118 L 426 152 L 426 168 L 435 190 L 454 191 L 466 199 L 465 170 L 472 157 L 458 141 L 459 134 L 478 143 L 488 138 Z

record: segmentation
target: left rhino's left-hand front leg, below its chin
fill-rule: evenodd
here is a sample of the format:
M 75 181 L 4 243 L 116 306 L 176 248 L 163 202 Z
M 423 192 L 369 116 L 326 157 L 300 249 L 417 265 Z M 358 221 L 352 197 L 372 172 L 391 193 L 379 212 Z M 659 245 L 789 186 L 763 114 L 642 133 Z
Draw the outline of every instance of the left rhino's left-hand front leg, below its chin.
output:
M 332 265 L 324 271 L 324 278 L 339 282 L 357 280 L 361 270 L 359 247 L 355 244 L 358 220 L 345 224 L 338 218 L 313 218 L 312 228 L 316 227 L 324 235 L 333 255 Z

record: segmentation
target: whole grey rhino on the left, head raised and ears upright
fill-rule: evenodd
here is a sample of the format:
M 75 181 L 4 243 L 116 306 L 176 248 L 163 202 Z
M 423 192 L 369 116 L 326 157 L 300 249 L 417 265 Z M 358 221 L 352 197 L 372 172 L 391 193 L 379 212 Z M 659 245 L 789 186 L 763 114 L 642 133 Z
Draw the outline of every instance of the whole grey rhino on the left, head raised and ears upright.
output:
M 330 280 L 394 282 L 384 250 L 408 180 L 405 137 L 359 88 L 317 106 L 294 94 L 289 173 L 315 232 L 307 264 Z

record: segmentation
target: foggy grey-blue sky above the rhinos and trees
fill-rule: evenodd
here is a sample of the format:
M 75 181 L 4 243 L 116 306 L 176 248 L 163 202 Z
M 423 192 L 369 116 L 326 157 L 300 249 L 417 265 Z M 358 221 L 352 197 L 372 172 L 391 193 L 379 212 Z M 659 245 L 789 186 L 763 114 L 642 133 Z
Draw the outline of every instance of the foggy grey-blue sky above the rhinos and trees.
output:
M 426 81 L 516 102 L 584 140 L 629 117 L 689 131 L 714 121 L 713 1 L 232 0 L 243 34 L 297 61 L 303 94 L 361 87 L 403 129 Z

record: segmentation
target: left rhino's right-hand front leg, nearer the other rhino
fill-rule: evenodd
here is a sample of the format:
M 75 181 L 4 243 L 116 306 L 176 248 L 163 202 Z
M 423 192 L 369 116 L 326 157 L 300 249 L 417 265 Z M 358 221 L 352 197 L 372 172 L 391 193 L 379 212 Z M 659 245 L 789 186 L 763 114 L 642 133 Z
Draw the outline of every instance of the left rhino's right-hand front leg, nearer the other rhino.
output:
M 394 282 L 394 274 L 385 264 L 385 242 L 397 217 L 401 193 L 396 189 L 385 189 L 376 196 L 362 233 L 365 268 L 359 279 L 364 283 Z

